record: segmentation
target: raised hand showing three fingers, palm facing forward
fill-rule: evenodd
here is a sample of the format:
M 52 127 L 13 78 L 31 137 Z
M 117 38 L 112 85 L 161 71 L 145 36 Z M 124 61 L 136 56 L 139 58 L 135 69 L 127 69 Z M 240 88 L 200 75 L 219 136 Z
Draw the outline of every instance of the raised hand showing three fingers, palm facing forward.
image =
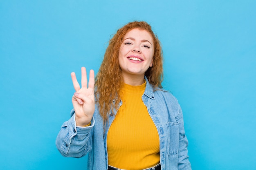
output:
M 85 126 L 92 120 L 95 110 L 94 71 L 90 70 L 88 86 L 85 67 L 81 68 L 81 88 L 74 72 L 71 73 L 71 78 L 76 91 L 72 97 L 72 104 L 76 113 L 76 126 Z

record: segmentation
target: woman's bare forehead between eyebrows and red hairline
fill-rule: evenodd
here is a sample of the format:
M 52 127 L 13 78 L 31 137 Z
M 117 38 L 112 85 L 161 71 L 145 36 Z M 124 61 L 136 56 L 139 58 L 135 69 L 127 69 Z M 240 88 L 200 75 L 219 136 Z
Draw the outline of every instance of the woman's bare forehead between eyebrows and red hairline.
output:
M 152 35 L 143 29 L 132 29 L 130 31 L 128 31 L 125 35 L 124 35 L 124 39 L 126 38 L 133 38 L 135 40 L 148 40 L 149 42 L 153 43 L 153 37 Z

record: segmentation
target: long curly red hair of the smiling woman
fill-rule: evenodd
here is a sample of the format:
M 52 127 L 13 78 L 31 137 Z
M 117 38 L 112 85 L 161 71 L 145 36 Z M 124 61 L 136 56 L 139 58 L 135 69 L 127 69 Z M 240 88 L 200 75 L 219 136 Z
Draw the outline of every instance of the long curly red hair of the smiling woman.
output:
M 96 76 L 96 102 L 99 104 L 99 114 L 103 118 L 104 124 L 108 121 L 108 114 L 113 109 L 118 108 L 121 101 L 120 88 L 124 83 L 121 75 L 121 68 L 118 62 L 118 55 L 124 36 L 132 29 L 146 30 L 153 38 L 154 56 L 153 66 L 149 67 L 145 73 L 149 83 L 154 89 L 162 88 L 163 80 L 163 55 L 162 47 L 157 36 L 153 33 L 151 26 L 144 21 L 129 22 L 122 28 L 117 30 L 117 33 L 109 41 L 108 48 L 103 58 L 103 62 Z M 115 102 L 113 102 L 115 101 Z

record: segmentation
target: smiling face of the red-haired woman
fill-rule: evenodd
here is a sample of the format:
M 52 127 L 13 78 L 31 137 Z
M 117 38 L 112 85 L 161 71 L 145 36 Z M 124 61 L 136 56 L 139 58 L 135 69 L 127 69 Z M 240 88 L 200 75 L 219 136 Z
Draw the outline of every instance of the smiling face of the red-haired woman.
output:
M 124 36 L 118 61 L 124 79 L 143 77 L 149 67 L 153 66 L 153 38 L 146 30 L 132 29 Z

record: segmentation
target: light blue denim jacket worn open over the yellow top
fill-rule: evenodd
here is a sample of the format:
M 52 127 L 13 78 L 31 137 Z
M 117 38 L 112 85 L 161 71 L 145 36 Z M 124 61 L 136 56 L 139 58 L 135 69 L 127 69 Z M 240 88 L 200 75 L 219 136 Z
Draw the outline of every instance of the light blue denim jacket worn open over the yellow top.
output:
M 145 77 L 146 79 L 146 77 Z M 184 131 L 183 114 L 177 99 L 163 90 L 153 91 L 146 79 L 146 89 L 142 100 L 157 127 L 160 143 L 160 163 L 162 170 L 191 170 L 188 156 L 188 140 Z M 122 102 L 119 103 L 119 107 Z M 88 154 L 88 170 L 107 170 L 107 134 L 115 119 L 117 110 L 109 114 L 106 130 L 97 105 L 88 127 L 76 126 L 74 109 L 71 118 L 61 126 L 56 146 L 65 157 L 83 157 Z

